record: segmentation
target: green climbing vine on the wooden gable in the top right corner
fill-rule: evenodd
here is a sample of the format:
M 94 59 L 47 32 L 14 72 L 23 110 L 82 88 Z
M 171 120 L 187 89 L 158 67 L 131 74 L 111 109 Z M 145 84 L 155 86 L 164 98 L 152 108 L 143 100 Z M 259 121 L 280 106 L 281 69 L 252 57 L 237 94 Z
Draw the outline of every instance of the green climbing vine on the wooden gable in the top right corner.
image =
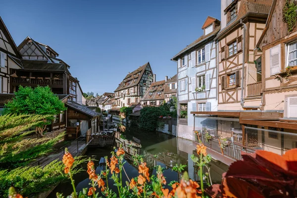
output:
M 297 5 L 294 0 L 286 0 L 286 4 L 283 8 L 283 18 L 288 24 L 288 31 L 292 32 L 297 22 Z

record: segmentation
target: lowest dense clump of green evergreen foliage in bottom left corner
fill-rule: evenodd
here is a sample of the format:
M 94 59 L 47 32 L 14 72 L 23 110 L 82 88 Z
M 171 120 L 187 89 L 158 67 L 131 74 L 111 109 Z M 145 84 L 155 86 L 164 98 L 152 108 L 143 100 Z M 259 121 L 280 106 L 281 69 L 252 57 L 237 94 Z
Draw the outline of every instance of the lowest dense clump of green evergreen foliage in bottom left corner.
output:
M 85 161 L 86 159 L 75 157 L 73 174 L 82 171 L 78 165 Z M 54 160 L 45 167 L 27 166 L 11 171 L 0 170 L 0 197 L 7 197 L 7 189 L 11 186 L 14 186 L 23 197 L 35 197 L 67 179 L 64 167 L 61 161 Z

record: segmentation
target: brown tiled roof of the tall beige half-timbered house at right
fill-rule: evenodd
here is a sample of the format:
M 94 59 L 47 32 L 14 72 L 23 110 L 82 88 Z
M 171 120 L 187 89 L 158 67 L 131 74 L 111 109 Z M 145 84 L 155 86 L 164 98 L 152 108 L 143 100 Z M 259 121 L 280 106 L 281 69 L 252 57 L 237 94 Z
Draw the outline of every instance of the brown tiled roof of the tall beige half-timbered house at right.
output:
M 231 5 L 237 3 L 237 1 L 233 1 Z M 268 16 L 271 4 L 272 0 L 241 0 L 237 16 L 218 33 L 215 40 L 225 36 L 232 28 L 240 24 L 241 19 L 245 19 L 247 16 L 253 15 L 255 16 L 254 19 L 263 20 Z

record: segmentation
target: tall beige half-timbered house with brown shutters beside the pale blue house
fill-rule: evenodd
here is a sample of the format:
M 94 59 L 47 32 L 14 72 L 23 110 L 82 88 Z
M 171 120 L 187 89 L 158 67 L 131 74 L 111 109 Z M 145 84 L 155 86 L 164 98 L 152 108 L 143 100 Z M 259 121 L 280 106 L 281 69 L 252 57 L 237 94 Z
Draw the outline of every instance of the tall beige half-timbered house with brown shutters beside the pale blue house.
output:
M 261 71 L 253 49 L 272 0 L 221 0 L 218 110 L 261 109 Z

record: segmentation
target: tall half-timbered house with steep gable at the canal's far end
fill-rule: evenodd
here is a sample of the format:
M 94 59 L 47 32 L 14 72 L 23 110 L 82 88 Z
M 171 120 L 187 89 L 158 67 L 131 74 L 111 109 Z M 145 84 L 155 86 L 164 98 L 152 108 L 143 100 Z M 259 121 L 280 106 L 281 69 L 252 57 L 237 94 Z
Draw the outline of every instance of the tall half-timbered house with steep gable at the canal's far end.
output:
M 153 82 L 153 73 L 149 62 L 129 72 L 114 91 L 118 108 L 129 106 L 132 102 L 140 102 Z

